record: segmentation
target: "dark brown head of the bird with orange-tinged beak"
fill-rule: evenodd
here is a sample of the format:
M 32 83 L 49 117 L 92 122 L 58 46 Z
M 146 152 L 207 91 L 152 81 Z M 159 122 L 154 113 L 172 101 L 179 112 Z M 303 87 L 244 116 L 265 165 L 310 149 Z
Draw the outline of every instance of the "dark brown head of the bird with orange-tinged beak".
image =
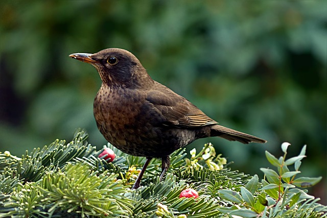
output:
M 141 62 L 123 49 L 105 49 L 95 54 L 75 53 L 71 58 L 92 64 L 108 86 L 141 88 L 152 81 Z

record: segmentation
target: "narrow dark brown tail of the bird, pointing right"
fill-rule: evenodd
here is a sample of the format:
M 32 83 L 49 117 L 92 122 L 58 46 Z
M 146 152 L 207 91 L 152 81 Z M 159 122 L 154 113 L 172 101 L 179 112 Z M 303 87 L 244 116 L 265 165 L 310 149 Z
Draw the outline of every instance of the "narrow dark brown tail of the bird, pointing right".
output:
M 257 143 L 266 143 L 267 141 L 253 135 L 249 135 L 243 132 L 239 132 L 236 130 L 232 130 L 220 125 L 214 125 L 211 128 L 210 136 L 219 136 L 225 138 L 230 141 L 240 141 L 244 144 L 248 144 L 250 142 Z

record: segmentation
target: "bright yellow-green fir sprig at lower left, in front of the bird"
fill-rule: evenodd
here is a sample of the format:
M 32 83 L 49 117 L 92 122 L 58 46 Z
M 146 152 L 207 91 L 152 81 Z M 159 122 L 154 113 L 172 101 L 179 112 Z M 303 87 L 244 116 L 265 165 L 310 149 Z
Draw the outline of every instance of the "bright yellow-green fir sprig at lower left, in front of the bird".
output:
M 49 212 L 67 210 L 67 212 L 85 215 L 119 215 L 131 214 L 132 200 L 124 193 L 127 187 L 124 181 L 116 180 L 118 175 L 91 171 L 86 164 L 67 164 L 64 171 L 46 174 L 40 189 L 45 193 L 44 204 L 52 205 Z M 74 187 L 74 188 L 72 188 Z

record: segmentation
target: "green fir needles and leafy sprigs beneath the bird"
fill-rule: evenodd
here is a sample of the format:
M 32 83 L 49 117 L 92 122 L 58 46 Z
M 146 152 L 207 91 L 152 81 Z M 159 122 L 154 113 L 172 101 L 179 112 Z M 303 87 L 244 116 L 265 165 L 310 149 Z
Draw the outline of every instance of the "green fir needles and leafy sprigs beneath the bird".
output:
M 108 144 L 116 156 L 108 163 L 86 138 L 78 131 L 67 144 L 56 140 L 21 157 L 0 153 L 0 217 L 326 217 L 327 207 L 304 189 L 321 177 L 300 176 L 306 146 L 289 159 L 289 143 L 278 159 L 266 152 L 273 167 L 261 168 L 261 182 L 226 168 L 211 143 L 192 150 L 190 159 L 180 149 L 163 181 L 160 160 L 153 160 L 142 186 L 132 190 L 145 158 Z M 179 198 L 185 188 L 199 197 Z

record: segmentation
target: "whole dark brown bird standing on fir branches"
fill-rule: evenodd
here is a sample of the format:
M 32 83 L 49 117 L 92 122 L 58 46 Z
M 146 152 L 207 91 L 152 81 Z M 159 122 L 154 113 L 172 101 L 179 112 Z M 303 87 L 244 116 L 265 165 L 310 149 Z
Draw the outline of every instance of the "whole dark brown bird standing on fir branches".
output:
M 152 158 L 162 160 L 161 180 L 170 165 L 169 155 L 198 138 L 266 142 L 218 125 L 191 102 L 154 81 L 126 50 L 105 49 L 69 57 L 92 64 L 100 74 L 102 85 L 94 101 L 94 116 L 102 135 L 119 150 L 147 158 L 133 188 L 139 187 Z

